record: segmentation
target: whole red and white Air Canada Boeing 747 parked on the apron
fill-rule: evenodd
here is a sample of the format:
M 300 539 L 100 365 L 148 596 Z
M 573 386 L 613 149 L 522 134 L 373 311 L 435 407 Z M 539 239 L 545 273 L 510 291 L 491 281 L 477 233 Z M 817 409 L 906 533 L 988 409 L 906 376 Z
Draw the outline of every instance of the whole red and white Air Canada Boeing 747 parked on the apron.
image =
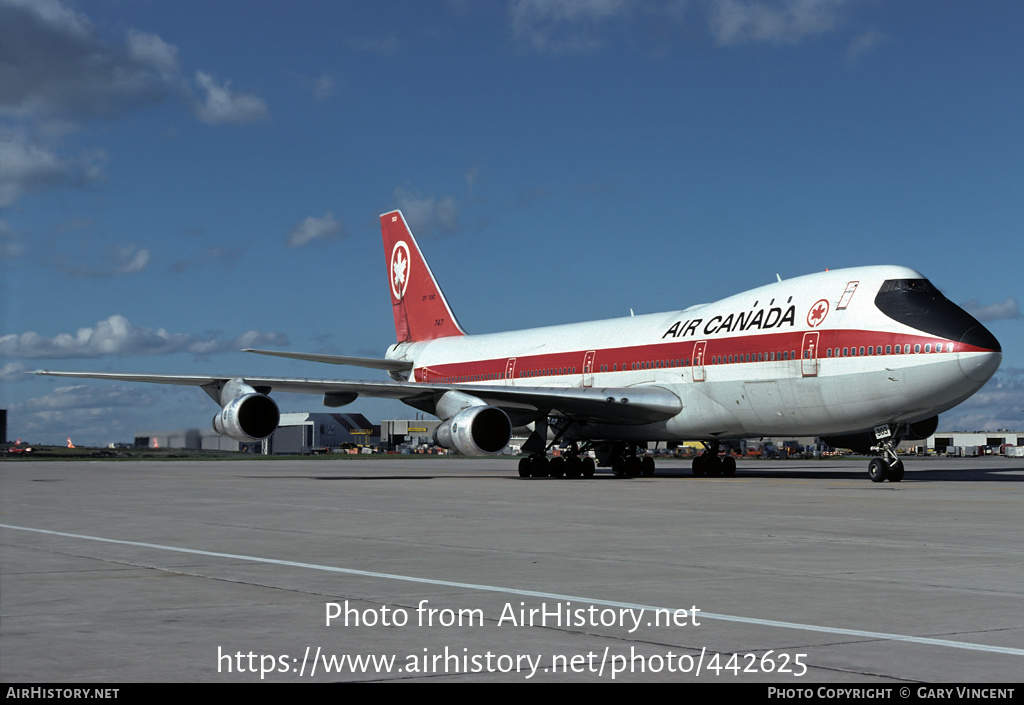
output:
M 833 269 L 715 303 L 509 333 L 468 335 L 456 320 L 400 211 L 381 215 L 396 342 L 383 359 L 251 350 L 388 371 L 392 381 L 105 372 L 38 374 L 191 384 L 219 406 L 217 432 L 267 438 L 271 391 L 397 399 L 436 415 L 436 442 L 467 455 L 499 453 L 530 430 L 521 475 L 649 475 L 647 442 L 699 441 L 697 475 L 732 475 L 724 441 L 818 436 L 881 453 L 874 482 L 899 482 L 901 439 L 927 438 L 938 414 L 995 373 L 1001 348 L 977 320 L 904 266 Z M 549 459 L 555 445 L 568 451 Z

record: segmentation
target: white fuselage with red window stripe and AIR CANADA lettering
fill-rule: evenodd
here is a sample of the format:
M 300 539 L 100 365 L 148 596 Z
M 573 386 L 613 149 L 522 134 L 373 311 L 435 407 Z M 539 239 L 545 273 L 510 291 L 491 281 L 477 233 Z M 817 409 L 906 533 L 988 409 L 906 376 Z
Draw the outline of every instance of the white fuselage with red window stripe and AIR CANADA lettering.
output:
M 876 294 L 889 280 L 924 277 L 901 266 L 836 269 L 678 312 L 399 343 L 388 357 L 414 362 L 415 381 L 467 390 L 655 385 L 682 402 L 666 421 L 584 425 L 582 438 L 852 432 L 950 409 L 1001 358 L 881 312 Z

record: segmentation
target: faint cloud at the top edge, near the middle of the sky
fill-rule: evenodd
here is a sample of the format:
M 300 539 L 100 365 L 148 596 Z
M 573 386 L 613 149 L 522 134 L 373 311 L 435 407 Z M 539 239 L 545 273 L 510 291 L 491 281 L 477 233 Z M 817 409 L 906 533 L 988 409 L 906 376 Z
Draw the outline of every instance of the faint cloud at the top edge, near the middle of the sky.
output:
M 598 25 L 622 17 L 628 0 L 513 0 L 512 33 L 538 51 L 577 52 L 600 43 Z

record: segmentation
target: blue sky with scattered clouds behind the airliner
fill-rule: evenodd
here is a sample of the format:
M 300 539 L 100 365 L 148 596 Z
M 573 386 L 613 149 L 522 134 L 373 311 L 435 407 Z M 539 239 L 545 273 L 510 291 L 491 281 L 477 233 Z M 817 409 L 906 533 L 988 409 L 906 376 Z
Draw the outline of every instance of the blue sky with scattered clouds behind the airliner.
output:
M 941 427 L 1024 428 L 1019 2 L 0 0 L 0 34 L 11 438 L 216 412 L 26 370 L 374 377 L 237 350 L 381 356 L 392 208 L 470 332 L 912 266 L 1005 349 Z

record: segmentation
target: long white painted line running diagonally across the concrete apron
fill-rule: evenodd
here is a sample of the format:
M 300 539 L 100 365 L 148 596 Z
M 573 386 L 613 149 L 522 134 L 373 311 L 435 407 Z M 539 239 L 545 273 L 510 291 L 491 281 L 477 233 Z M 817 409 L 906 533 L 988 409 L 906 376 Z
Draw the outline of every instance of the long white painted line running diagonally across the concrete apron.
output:
M 116 543 L 123 546 L 137 546 L 139 548 L 155 548 L 157 550 L 172 551 L 175 553 L 193 553 L 195 555 L 208 555 L 216 558 L 233 558 L 236 561 L 249 561 L 273 566 L 289 566 L 292 568 L 305 568 L 312 571 L 324 571 L 327 573 L 343 573 L 345 575 L 357 575 L 366 578 L 380 578 L 382 580 L 398 580 L 408 583 L 422 583 L 426 585 L 442 585 L 444 587 L 461 587 L 469 590 L 479 590 L 482 592 L 502 592 L 525 597 L 544 597 L 548 599 L 569 600 L 577 603 L 587 603 L 591 605 L 603 605 L 606 607 L 627 608 L 633 610 L 668 610 L 674 611 L 676 608 L 654 607 L 651 605 L 639 605 L 635 603 L 621 603 L 610 599 L 594 599 L 592 597 L 581 597 L 580 595 L 559 594 L 556 592 L 542 592 L 539 590 L 521 590 L 514 587 L 501 587 L 498 585 L 480 585 L 477 583 L 463 583 L 455 580 L 436 580 L 434 578 L 417 578 L 408 575 L 396 575 L 394 573 L 378 573 L 376 571 L 360 571 L 355 568 L 338 568 L 335 566 L 321 566 L 312 563 L 299 563 L 297 561 L 282 561 L 280 558 L 265 558 L 256 555 L 242 555 L 239 553 L 220 553 L 218 551 L 207 551 L 198 548 L 182 548 L 180 546 L 165 546 L 159 543 L 144 543 L 141 541 L 125 541 L 123 539 L 108 539 L 101 536 L 88 536 L 85 534 L 70 534 L 62 531 L 51 531 L 49 529 L 33 529 L 31 527 L 16 527 L 9 524 L 0 524 L 0 529 L 10 529 L 12 531 L 26 531 L 36 534 L 48 534 L 50 536 L 63 536 L 72 539 L 82 539 L 85 541 L 97 541 L 101 543 Z M 781 622 L 774 619 L 760 619 L 758 617 L 740 617 L 736 615 L 720 615 L 713 612 L 700 611 L 700 616 L 706 619 L 720 620 L 723 622 L 740 622 L 742 624 L 758 624 L 762 626 L 778 627 L 781 629 L 798 629 L 802 631 L 817 631 L 826 634 L 840 634 L 843 636 L 858 636 L 861 638 L 881 639 L 886 641 L 906 641 L 909 644 L 924 644 L 932 647 L 945 647 L 947 649 L 965 649 L 968 651 L 981 651 L 990 654 L 1009 654 L 1010 656 L 1024 656 L 1024 649 L 1013 647 L 995 647 L 986 644 L 973 644 L 971 641 L 955 641 L 952 639 L 932 638 L 929 636 L 910 636 L 907 634 L 890 634 L 882 631 L 865 631 L 863 629 L 844 629 L 842 627 L 824 627 L 815 624 L 800 624 L 799 622 Z

